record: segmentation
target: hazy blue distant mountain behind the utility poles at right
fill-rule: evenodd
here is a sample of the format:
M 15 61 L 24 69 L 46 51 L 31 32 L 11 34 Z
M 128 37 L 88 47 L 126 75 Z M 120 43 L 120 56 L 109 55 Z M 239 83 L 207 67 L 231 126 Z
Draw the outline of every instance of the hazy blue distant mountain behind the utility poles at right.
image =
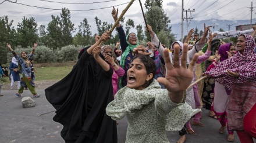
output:
M 195 29 L 195 27 L 197 27 L 198 29 L 198 33 L 200 32 L 200 30 L 204 31 L 204 23 L 208 26 L 208 25 L 215 25 L 215 29 L 211 28 L 211 31 L 219 31 L 220 28 L 222 28 L 224 31 L 228 31 L 229 28 L 227 28 L 227 25 L 230 25 L 230 30 L 236 30 L 236 26 L 238 25 L 244 25 L 244 24 L 250 24 L 251 21 L 250 20 L 218 20 L 218 19 L 209 19 L 209 20 L 201 20 L 201 21 L 197 21 L 197 20 L 191 20 L 189 27 L 187 28 L 187 22 L 186 20 L 184 20 L 184 27 L 183 27 L 183 36 L 187 35 L 188 31 L 190 31 L 192 28 Z M 256 19 L 252 20 L 252 24 L 256 23 Z M 182 26 L 181 23 L 179 24 L 172 24 L 170 23 L 169 26 L 172 26 L 172 32 L 173 34 L 177 34 L 176 35 L 176 39 L 180 40 L 181 38 L 181 33 L 182 33 Z M 187 31 L 188 30 L 188 31 Z

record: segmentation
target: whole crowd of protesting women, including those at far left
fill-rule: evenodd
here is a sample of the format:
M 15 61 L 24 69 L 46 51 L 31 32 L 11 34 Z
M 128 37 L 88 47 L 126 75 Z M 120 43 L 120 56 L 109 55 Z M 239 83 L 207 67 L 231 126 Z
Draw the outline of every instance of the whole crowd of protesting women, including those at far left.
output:
M 118 9 L 113 8 L 111 14 L 116 22 Z M 219 133 L 227 129 L 227 141 L 234 141 L 236 131 L 241 142 L 253 142 L 254 35 L 240 35 L 237 43 L 224 43 L 215 39 L 210 27 L 204 24 L 200 38 L 191 30 L 184 42 L 173 42 L 169 48 L 150 25 L 146 25 L 151 36 L 147 47 L 139 44 L 135 33 L 125 35 L 120 24 L 116 26 L 120 42 L 114 51 L 109 45 L 99 46 L 110 38 L 108 31 L 96 35 L 94 45 L 80 50 L 70 74 L 45 89 L 56 109 L 54 121 L 63 125 L 65 142 L 118 142 L 116 120 L 125 116 L 126 142 L 169 142 L 166 130 L 179 131 L 177 142 L 185 142 L 187 133 L 196 135 L 191 124 L 204 127 L 200 122 L 203 106 L 210 110 L 209 116 L 219 120 Z M 13 71 L 20 69 L 22 75 L 16 96 L 27 86 L 33 97 L 40 97 L 29 67 L 37 43 L 29 55 L 22 52 L 20 56 L 7 46 L 15 57 Z M 190 86 L 202 76 L 207 78 Z

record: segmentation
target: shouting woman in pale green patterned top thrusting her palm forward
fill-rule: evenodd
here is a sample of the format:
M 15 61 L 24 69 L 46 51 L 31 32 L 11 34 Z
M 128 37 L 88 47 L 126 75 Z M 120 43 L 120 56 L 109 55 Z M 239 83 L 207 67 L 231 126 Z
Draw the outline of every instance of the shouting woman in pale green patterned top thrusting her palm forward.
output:
M 127 116 L 126 143 L 169 142 L 166 130 L 182 129 L 191 116 L 200 112 L 185 102 L 198 56 L 194 56 L 187 68 L 187 44 L 183 48 L 180 57 L 180 47 L 174 47 L 174 67 L 168 49 L 163 50 L 166 78 L 154 79 L 156 66 L 149 56 L 138 54 L 131 60 L 127 86 L 116 93 L 115 100 L 106 108 L 113 120 Z M 158 82 L 166 89 L 161 89 Z

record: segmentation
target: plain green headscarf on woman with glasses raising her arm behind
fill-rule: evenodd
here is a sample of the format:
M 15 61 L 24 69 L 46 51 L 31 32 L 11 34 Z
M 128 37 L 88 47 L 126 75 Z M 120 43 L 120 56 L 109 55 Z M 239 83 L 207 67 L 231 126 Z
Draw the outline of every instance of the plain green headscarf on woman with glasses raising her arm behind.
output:
M 131 34 L 131 33 L 130 33 Z M 136 45 L 131 45 L 129 42 L 128 42 L 128 39 L 129 39 L 129 35 L 128 34 L 126 36 L 126 43 L 128 44 L 128 46 L 126 47 L 125 49 L 125 52 L 123 52 L 122 56 L 121 56 L 121 60 L 120 60 L 120 67 L 122 67 L 123 69 L 125 69 L 125 60 L 126 60 L 126 57 L 127 55 L 129 54 L 130 50 L 131 52 L 133 52 L 133 49 L 136 48 L 138 46 L 138 39 L 137 39 L 137 44 Z M 119 78 L 119 89 L 122 89 L 122 80 L 123 80 L 123 77 L 120 77 Z

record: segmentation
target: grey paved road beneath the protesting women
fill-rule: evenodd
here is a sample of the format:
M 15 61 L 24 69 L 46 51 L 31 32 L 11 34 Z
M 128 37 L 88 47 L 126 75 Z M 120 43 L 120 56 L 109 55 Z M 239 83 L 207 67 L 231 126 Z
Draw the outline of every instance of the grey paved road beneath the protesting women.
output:
M 36 104 L 35 107 L 22 108 L 21 98 L 15 96 L 16 90 L 1 91 L 4 96 L 0 97 L 0 143 L 64 142 L 60 135 L 62 125 L 52 120 L 55 112 L 51 111 L 55 111 L 55 109 L 46 100 L 44 90 L 37 90 L 37 92 L 41 94 L 41 97 L 33 98 Z M 29 90 L 24 90 L 22 96 L 32 97 Z M 219 134 L 218 129 L 221 125 L 218 120 L 209 118 L 208 111 L 204 109 L 201 122 L 205 124 L 205 127 L 191 125 L 197 135 L 187 134 L 186 143 L 227 142 L 227 132 Z M 125 142 L 126 129 L 126 119 L 120 120 L 118 124 L 118 140 L 120 143 Z M 166 134 L 170 142 L 179 140 L 177 131 L 167 131 Z M 234 142 L 240 142 L 236 133 Z

